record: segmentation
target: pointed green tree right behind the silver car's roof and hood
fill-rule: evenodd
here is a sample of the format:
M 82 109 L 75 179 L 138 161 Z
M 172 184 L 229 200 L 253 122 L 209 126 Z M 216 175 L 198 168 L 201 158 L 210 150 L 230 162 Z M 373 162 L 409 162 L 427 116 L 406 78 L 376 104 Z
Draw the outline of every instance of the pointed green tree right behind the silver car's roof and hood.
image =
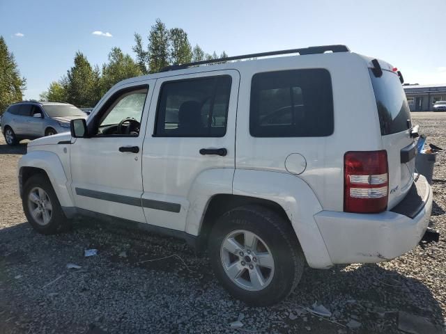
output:
M 67 71 L 66 99 L 79 107 L 92 107 L 100 100 L 100 70 L 91 67 L 86 56 L 77 51 L 75 65 Z

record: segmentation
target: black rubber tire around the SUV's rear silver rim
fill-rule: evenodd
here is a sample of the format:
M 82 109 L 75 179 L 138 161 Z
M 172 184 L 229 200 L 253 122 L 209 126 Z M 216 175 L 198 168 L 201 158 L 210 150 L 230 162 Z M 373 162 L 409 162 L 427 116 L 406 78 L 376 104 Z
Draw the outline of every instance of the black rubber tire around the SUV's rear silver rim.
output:
M 274 273 L 270 283 L 259 291 L 239 287 L 224 270 L 220 257 L 222 242 L 236 230 L 253 232 L 270 248 Z M 285 299 L 298 285 L 305 267 L 305 256 L 289 221 L 259 205 L 238 207 L 221 216 L 210 233 L 208 251 L 220 283 L 236 299 L 253 306 L 272 305 Z

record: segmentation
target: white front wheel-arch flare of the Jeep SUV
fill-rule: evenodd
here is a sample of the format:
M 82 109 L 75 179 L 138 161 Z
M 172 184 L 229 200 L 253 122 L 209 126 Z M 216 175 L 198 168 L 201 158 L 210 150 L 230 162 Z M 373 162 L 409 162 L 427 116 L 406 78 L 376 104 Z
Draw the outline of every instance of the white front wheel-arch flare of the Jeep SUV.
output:
M 21 182 L 22 168 L 24 167 L 33 167 L 45 170 L 45 173 L 48 175 L 49 181 L 53 186 L 54 192 L 56 193 L 61 206 L 74 207 L 74 202 L 70 196 L 70 191 L 67 186 L 68 178 L 66 177 L 61 160 L 57 154 L 38 150 L 24 154 L 19 161 L 17 170 L 19 184 Z M 21 184 L 20 188 L 22 188 Z

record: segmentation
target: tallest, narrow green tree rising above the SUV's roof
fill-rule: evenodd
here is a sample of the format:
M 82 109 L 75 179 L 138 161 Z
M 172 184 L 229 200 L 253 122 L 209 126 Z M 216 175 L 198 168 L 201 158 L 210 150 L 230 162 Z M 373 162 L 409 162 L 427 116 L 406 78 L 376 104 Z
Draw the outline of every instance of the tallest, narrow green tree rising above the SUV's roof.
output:
M 148 35 L 148 71 L 160 72 L 169 65 L 169 31 L 160 19 L 156 19 Z

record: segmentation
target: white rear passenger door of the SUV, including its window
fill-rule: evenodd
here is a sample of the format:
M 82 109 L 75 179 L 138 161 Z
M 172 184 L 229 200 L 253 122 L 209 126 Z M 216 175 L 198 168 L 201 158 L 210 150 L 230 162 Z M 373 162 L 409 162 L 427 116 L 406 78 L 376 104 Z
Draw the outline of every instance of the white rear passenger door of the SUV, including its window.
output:
M 220 168 L 206 183 L 231 189 L 239 81 L 236 70 L 157 79 L 142 157 L 149 224 L 184 231 L 194 209 L 188 195 L 203 173 Z

